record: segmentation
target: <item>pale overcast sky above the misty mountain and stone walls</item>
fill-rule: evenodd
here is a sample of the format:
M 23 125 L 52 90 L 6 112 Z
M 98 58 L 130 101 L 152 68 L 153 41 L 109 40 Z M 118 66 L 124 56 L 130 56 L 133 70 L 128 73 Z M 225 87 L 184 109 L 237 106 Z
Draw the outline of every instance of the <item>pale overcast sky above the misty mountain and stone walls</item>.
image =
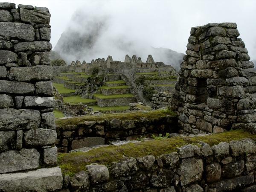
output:
M 2 0 L 1 0 L 2 1 Z M 6 2 L 3 1 L 3 2 Z M 9 0 L 17 4 L 48 7 L 54 47 L 77 9 L 107 13 L 113 31 L 143 39 L 152 47 L 186 51 L 192 26 L 236 22 L 240 38 L 256 60 L 256 0 Z

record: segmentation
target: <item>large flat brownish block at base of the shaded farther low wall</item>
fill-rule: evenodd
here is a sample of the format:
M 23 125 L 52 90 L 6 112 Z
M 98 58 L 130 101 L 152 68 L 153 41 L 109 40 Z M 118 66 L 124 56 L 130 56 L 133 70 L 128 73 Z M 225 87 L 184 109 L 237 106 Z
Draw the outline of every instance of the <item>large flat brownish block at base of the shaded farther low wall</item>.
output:
M 105 139 L 102 137 L 86 137 L 77 140 L 73 140 L 71 144 L 72 149 L 90 147 L 94 145 L 104 145 Z

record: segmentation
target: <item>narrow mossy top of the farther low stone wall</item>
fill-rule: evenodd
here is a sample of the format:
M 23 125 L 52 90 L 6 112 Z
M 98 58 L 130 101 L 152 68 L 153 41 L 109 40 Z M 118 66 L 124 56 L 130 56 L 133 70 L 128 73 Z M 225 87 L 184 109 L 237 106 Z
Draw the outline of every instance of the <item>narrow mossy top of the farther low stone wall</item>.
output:
M 99 116 L 80 116 L 80 117 L 72 117 L 70 119 L 58 119 L 55 121 L 56 125 L 77 125 L 79 122 L 83 121 L 102 121 L 104 119 L 133 119 L 137 120 L 142 117 L 148 119 L 159 119 L 160 117 L 164 117 L 166 115 L 176 116 L 177 114 L 173 111 L 168 110 L 152 110 L 152 111 L 134 111 L 134 112 L 125 112 L 125 113 L 104 113 Z

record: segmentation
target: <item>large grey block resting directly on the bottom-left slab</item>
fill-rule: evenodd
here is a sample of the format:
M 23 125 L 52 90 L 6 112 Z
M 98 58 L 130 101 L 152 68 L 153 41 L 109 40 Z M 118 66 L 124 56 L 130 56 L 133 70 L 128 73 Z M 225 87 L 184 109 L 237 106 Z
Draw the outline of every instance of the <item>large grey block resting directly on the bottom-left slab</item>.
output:
M 35 169 L 39 166 L 40 153 L 35 149 L 23 148 L 20 151 L 6 151 L 0 154 L 0 173 Z

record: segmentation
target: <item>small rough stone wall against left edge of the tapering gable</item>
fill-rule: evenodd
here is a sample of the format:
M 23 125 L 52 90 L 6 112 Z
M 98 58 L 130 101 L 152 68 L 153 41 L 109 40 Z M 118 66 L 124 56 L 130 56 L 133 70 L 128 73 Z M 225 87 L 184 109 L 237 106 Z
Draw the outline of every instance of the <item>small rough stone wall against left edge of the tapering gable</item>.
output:
M 152 97 L 152 108 L 159 109 L 163 107 L 168 107 L 172 99 L 172 93 L 158 92 L 153 94 Z

